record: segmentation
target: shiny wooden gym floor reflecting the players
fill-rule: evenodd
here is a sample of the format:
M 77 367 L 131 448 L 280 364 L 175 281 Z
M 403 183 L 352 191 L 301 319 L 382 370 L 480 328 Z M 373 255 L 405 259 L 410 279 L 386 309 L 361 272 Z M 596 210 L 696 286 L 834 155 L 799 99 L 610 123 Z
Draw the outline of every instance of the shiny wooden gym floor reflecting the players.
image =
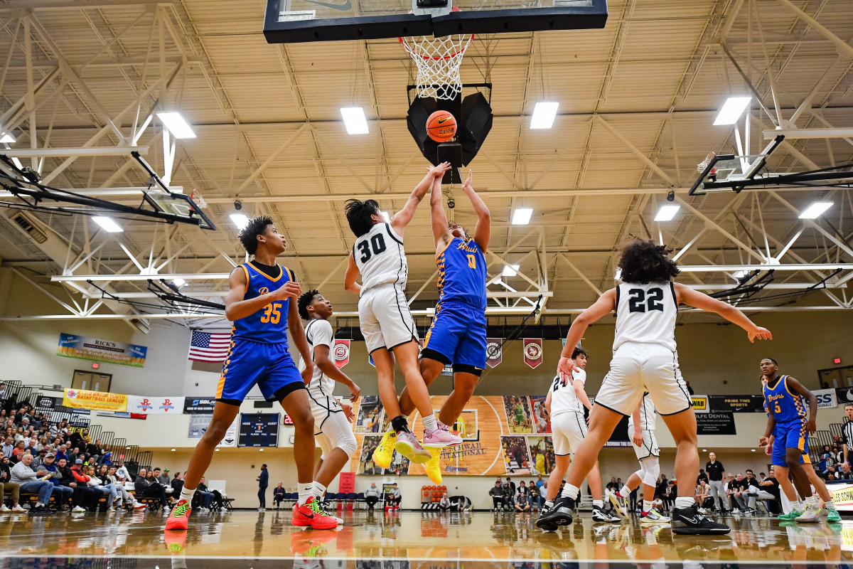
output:
M 853 561 L 850 520 L 784 526 L 769 518 L 729 518 L 728 536 L 674 537 L 669 526 L 594 524 L 589 514 L 549 534 L 537 530 L 530 514 L 357 511 L 344 518 L 338 531 L 316 531 L 291 526 L 284 510 L 196 513 L 189 531 L 164 537 L 165 515 L 154 512 L 0 514 L 0 567 L 536 569 Z

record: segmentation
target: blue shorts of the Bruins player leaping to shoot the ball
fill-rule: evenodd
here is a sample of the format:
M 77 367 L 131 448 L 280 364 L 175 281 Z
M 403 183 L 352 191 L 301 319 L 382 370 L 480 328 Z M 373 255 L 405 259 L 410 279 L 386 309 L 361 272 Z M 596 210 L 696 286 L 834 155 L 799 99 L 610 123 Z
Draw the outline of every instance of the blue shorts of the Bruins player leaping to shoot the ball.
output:
M 460 302 L 435 307 L 432 326 L 424 339 L 427 357 L 445 365 L 485 369 L 485 311 Z

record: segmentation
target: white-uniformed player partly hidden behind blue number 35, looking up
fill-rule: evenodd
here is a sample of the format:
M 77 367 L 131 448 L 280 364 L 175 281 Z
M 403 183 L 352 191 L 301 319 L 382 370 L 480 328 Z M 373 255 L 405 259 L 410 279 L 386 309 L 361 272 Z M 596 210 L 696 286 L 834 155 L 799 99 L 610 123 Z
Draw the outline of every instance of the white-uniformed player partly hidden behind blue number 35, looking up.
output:
M 315 497 L 322 500 L 326 487 L 358 450 L 351 422 L 352 404 L 358 401 L 361 389 L 330 357 L 334 350 L 334 331 L 332 324 L 328 322 L 332 316 L 332 303 L 322 298 L 318 291 L 310 290 L 299 297 L 297 305 L 299 316 L 308 321 L 305 326 L 305 338 L 308 340 L 311 361 L 314 363 L 314 375 L 308 384 L 308 398 L 311 415 L 314 415 L 314 436 L 322 449 L 314 482 L 316 490 L 320 492 L 320 495 Z M 305 360 L 300 360 L 299 370 L 302 371 L 305 367 Z M 332 395 L 335 381 L 350 390 L 351 403 L 339 401 Z M 339 518 L 337 520 L 339 524 L 343 523 Z

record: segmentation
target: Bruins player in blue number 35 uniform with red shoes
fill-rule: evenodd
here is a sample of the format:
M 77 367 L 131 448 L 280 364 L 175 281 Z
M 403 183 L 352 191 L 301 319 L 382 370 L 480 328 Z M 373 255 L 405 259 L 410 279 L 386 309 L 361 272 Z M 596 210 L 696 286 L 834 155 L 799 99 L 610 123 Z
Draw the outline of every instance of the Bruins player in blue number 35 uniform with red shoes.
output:
M 239 265 L 229 276 L 225 317 L 234 322 L 234 328 L 219 378 L 217 402 L 210 427 L 189 459 L 183 491 L 166 520 L 165 529 L 187 529 L 195 488 L 210 465 L 217 444 L 240 411 L 240 404 L 254 386 L 258 386 L 268 401 L 280 402 L 293 419 L 293 458 L 299 479 L 299 502 L 293 510 L 293 525 L 332 529 L 338 522 L 319 507 L 322 491 L 313 481 L 314 416 L 305 384 L 311 380 L 314 369 L 295 302 L 301 291 L 293 271 L 276 264 L 276 257 L 284 253 L 287 243 L 269 216 L 252 218 L 239 237 L 254 259 Z M 287 351 L 288 328 L 306 363 L 301 374 Z

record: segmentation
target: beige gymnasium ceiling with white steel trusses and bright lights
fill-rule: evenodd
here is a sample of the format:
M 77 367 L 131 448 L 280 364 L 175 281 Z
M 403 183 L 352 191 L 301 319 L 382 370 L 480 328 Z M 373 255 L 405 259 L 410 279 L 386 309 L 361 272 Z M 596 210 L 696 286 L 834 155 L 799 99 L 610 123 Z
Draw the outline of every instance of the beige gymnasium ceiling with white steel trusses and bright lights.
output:
M 766 264 L 789 241 L 781 264 L 853 262 L 848 189 L 687 195 L 706 154 L 740 154 L 734 127 L 712 122 L 728 96 L 750 94 L 746 79 L 769 110 L 753 99 L 753 152 L 779 122 L 853 128 L 849 0 L 612 0 L 609 9 L 603 30 L 478 37 L 465 56 L 463 80 L 494 85 L 494 127 L 471 165 L 492 215 L 490 276 L 520 264 L 529 280 L 505 277 L 508 287 L 533 291 L 533 300 L 540 290 L 550 293 L 544 313 L 569 315 L 612 287 L 614 252 L 633 235 L 676 251 L 689 244 L 679 259 L 687 265 Z M 322 284 L 336 311 L 355 311 L 357 299 L 342 285 L 353 243 L 345 197 L 373 197 L 395 212 L 427 167 L 406 128 L 412 65 L 396 39 L 267 44 L 263 15 L 263 0 L 0 0 L 0 125 L 14 133 L 10 147 L 127 150 L 136 137 L 163 175 L 163 126 L 157 119 L 144 131 L 139 126 L 152 112 L 180 111 L 198 136 L 177 142 L 171 184 L 199 189 L 218 225 L 211 232 L 121 220 L 124 233 L 107 234 L 88 218 L 38 214 L 63 251 L 38 246 L 0 215 L 3 266 L 68 305 L 46 300 L 47 312 L 134 313 L 96 306 L 96 294 L 84 299 L 79 290 L 91 293 L 85 282 L 50 282 L 63 271 L 228 273 L 243 258 L 228 217 L 238 195 L 242 212 L 276 219 L 288 241 L 283 263 L 301 282 Z M 559 115 L 552 129 L 531 131 L 539 101 L 560 102 Z M 364 107 L 368 135 L 346 134 L 339 108 L 351 106 Z M 741 121 L 741 133 L 744 127 Z M 851 159 L 853 137 L 789 137 L 769 163 L 784 172 Z M 47 183 L 81 191 L 140 188 L 148 179 L 125 155 L 48 157 L 35 165 Z M 472 224 L 461 191 L 445 189 L 456 197 L 456 220 Z M 670 190 L 682 208 L 673 221 L 654 222 Z M 824 198 L 834 204 L 825 218 L 798 219 Z M 111 199 L 135 203 L 138 195 Z M 533 209 L 530 225 L 509 224 L 517 206 Z M 426 311 L 437 296 L 427 207 L 407 230 L 406 246 L 409 294 L 422 288 L 412 307 Z M 725 289 L 734 286 L 734 270 L 694 270 L 681 280 Z M 776 288 L 750 306 L 849 309 L 849 268 L 828 282 L 838 287 L 775 296 L 832 272 L 777 270 Z M 101 284 L 145 296 L 144 282 Z M 182 292 L 221 301 L 225 286 L 221 278 L 197 278 Z M 500 302 L 508 308 L 493 301 L 496 314 L 531 308 L 529 299 Z

